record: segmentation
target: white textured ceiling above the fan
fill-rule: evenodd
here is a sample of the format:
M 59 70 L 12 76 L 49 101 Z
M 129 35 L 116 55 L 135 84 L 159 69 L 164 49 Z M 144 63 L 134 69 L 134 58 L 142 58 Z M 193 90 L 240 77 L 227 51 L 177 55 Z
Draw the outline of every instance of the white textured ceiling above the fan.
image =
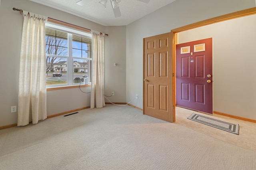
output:
M 114 16 L 110 0 L 108 0 L 106 8 L 99 3 L 99 0 L 92 0 L 84 6 L 76 4 L 79 0 L 30 1 L 68 12 L 104 26 L 126 26 L 175 0 L 150 0 L 148 4 L 137 0 L 122 0 L 119 3 L 122 16 L 118 18 Z

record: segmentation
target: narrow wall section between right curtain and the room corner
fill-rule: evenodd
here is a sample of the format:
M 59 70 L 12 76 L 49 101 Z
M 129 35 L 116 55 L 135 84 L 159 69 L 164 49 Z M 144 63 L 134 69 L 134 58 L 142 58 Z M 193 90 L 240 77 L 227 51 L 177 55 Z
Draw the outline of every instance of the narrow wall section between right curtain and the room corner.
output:
M 106 37 L 105 44 L 105 91 L 112 102 L 126 101 L 126 26 L 106 27 L 111 36 Z M 114 66 L 114 63 L 117 65 Z M 109 102 L 105 99 L 105 102 Z

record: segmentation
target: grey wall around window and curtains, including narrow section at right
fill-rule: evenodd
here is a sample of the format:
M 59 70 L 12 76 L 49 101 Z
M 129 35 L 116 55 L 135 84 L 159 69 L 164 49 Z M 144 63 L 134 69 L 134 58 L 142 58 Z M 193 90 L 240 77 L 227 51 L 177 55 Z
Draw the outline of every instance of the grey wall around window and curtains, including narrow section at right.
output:
M 125 102 L 125 26 L 105 27 L 29 0 L 2 0 L 0 6 L 0 127 L 17 123 L 17 113 L 10 113 L 10 107 L 18 105 L 18 75 L 23 17 L 19 12 L 12 10 L 14 7 L 91 30 L 108 33 L 109 36 L 105 38 L 105 94 L 111 95 L 111 91 L 114 91 L 115 95 L 110 99 L 114 102 Z M 113 62 L 120 65 L 114 67 Z M 88 92 L 90 87 L 82 88 L 82 90 Z M 47 91 L 47 115 L 87 106 L 90 106 L 90 94 L 82 93 L 79 89 Z

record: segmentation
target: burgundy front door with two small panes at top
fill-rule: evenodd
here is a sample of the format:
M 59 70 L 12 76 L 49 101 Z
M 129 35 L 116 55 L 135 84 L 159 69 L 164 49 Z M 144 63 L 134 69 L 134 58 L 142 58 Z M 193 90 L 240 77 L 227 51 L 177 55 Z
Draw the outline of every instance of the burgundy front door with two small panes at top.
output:
M 176 105 L 212 114 L 212 38 L 176 45 Z

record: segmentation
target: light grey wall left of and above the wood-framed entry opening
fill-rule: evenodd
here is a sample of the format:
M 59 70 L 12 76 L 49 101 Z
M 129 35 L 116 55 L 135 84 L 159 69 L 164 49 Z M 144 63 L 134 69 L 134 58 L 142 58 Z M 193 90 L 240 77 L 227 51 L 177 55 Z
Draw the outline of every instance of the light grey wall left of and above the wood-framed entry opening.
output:
M 176 0 L 126 26 L 126 101 L 143 108 L 143 38 L 255 7 L 254 0 Z

